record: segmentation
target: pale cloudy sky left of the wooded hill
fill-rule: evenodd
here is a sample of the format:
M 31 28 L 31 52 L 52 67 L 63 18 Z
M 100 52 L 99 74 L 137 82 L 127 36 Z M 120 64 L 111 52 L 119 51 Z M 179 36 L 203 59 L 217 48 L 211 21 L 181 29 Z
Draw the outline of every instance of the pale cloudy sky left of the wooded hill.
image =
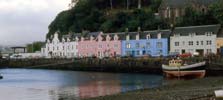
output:
M 45 41 L 49 24 L 71 0 L 0 0 L 0 46 Z

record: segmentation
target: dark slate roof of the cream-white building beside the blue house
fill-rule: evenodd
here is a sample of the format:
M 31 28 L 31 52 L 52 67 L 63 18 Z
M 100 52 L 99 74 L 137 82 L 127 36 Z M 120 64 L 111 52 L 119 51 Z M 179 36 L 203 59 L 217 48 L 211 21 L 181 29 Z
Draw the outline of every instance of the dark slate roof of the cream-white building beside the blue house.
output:
M 173 33 L 177 34 L 189 34 L 189 33 L 197 33 L 202 34 L 205 32 L 213 32 L 213 34 L 217 34 L 221 25 L 202 25 L 202 26 L 188 26 L 188 27 L 176 27 L 173 30 Z

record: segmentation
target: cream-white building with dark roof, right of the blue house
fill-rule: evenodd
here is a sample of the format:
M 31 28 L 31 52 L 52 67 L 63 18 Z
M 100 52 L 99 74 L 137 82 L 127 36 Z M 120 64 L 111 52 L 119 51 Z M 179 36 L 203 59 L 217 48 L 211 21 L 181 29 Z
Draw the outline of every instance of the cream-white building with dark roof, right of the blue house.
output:
M 220 25 L 176 27 L 170 36 L 170 52 L 216 54 L 219 29 Z

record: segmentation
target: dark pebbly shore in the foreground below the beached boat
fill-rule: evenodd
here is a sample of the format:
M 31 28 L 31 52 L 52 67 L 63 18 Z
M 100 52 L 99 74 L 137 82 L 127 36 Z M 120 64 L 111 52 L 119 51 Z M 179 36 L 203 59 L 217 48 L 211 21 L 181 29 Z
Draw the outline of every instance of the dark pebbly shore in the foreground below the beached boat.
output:
M 223 77 L 194 80 L 164 80 L 163 86 L 85 100 L 222 100 L 215 90 L 223 89 Z

